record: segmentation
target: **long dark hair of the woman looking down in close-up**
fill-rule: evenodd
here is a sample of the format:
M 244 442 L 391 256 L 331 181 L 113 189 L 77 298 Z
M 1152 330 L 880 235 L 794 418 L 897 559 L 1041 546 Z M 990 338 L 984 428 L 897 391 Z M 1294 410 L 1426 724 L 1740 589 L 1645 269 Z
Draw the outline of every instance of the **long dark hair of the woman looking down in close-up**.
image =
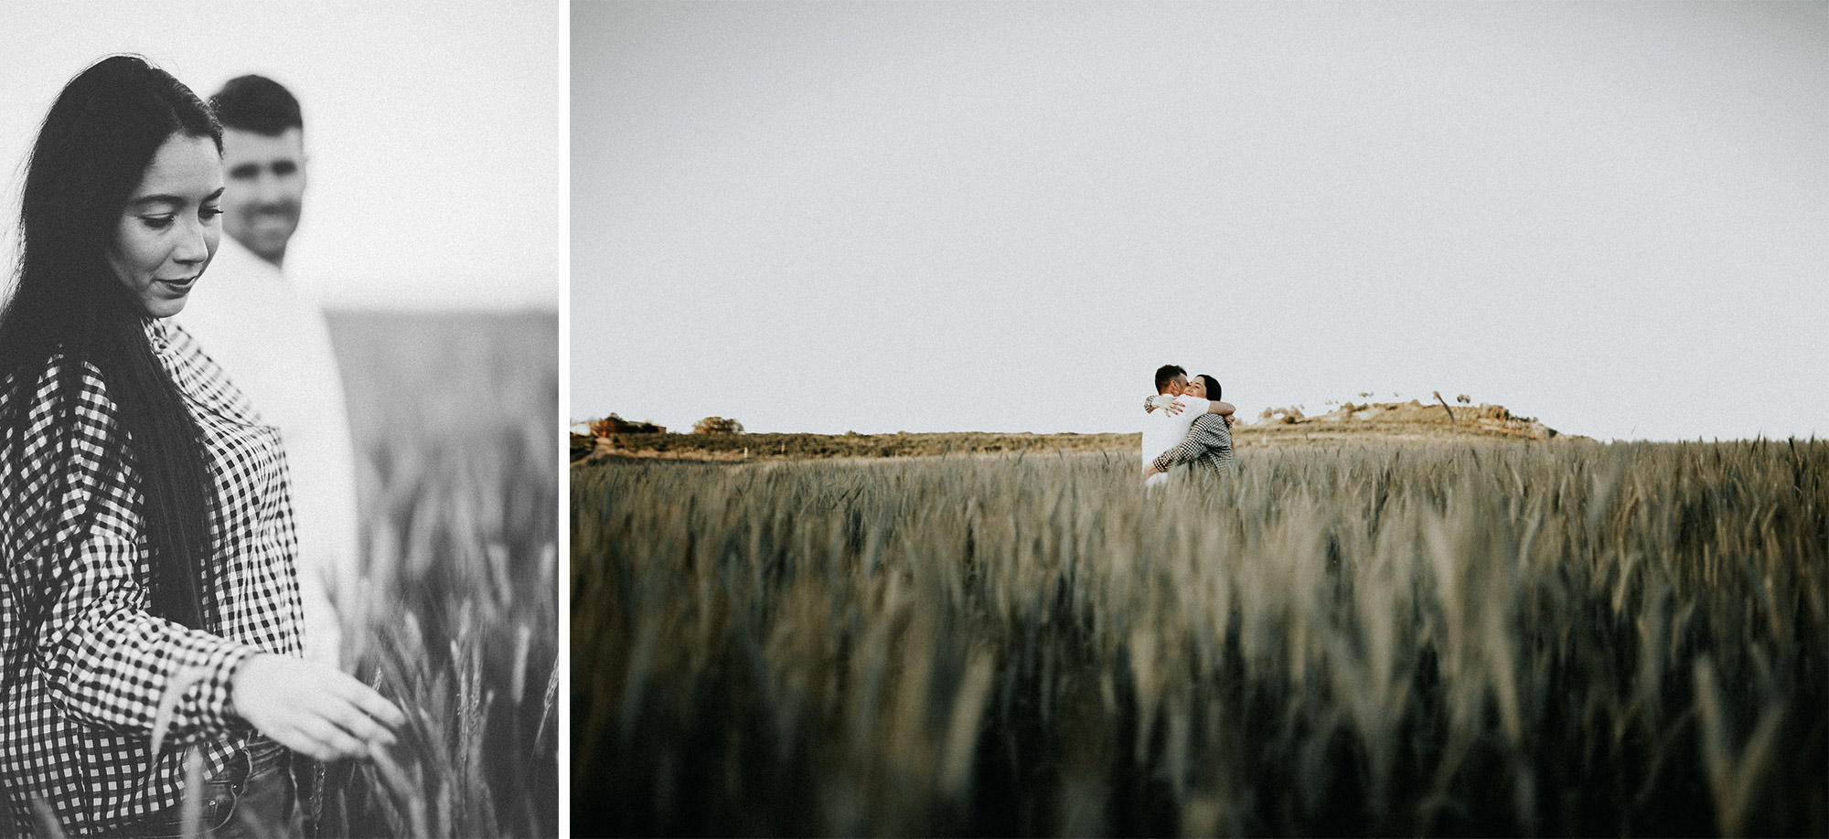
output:
M 55 362 L 49 397 L 53 473 L 38 497 L 16 497 L 4 515 L 68 515 L 60 510 L 71 481 L 71 431 L 84 369 L 101 375 L 117 408 L 124 451 L 102 453 L 104 468 L 132 466 L 141 495 L 144 541 L 152 554 L 152 612 L 187 627 L 205 625 L 209 504 L 212 483 L 201 430 L 143 325 L 144 309 L 108 265 L 126 201 L 165 141 L 210 137 L 221 152 L 221 126 L 170 73 L 135 55 L 113 55 L 79 73 L 59 93 L 31 148 L 20 205 L 18 283 L 0 311 L 0 439 L 24 448 L 35 388 Z M 42 408 L 42 404 L 38 404 Z M 20 450 L 13 451 L 13 457 Z M 15 461 L 15 468 L 24 468 Z M 79 521 L 75 545 L 57 545 L 46 567 L 15 567 L 24 631 L 31 649 L 64 579 L 73 574 L 91 521 Z M 55 521 L 55 519 L 51 519 Z M 24 532 L 40 525 L 24 525 Z M 46 523 L 48 525 L 48 523 Z M 9 669 L 22 649 L 4 651 Z

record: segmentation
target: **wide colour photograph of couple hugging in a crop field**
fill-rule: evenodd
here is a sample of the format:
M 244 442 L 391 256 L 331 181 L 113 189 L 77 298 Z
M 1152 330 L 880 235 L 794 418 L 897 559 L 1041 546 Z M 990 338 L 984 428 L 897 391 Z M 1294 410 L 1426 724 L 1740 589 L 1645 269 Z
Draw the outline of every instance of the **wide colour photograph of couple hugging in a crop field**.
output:
M 569 44 L 574 835 L 1829 832 L 1829 4 Z

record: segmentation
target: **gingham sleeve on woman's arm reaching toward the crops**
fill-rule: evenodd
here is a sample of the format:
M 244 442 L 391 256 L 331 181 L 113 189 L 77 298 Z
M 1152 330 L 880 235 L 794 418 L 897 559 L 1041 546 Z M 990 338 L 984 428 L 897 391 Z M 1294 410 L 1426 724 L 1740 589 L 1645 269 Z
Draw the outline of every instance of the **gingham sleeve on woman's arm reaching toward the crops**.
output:
M 112 457 L 123 435 L 99 375 L 84 373 L 80 400 L 66 417 L 73 422 L 42 430 L 66 437 L 66 446 L 48 446 L 62 450 L 62 462 L 31 470 L 64 477 L 46 486 L 59 521 L 26 548 L 49 570 L 38 585 L 59 587 L 37 638 L 51 700 L 75 720 L 148 735 L 170 704 L 165 742 L 174 746 L 241 724 L 230 709 L 230 678 L 256 649 L 150 614 L 137 481 L 130 459 Z

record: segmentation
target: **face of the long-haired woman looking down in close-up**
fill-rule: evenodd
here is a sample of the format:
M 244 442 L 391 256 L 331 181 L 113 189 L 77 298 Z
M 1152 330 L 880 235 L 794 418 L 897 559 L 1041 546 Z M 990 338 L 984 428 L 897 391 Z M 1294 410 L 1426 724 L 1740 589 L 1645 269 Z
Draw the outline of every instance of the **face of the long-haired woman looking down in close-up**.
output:
M 223 161 L 209 137 L 174 133 L 152 155 L 115 225 L 108 265 L 141 309 L 170 318 L 221 241 Z

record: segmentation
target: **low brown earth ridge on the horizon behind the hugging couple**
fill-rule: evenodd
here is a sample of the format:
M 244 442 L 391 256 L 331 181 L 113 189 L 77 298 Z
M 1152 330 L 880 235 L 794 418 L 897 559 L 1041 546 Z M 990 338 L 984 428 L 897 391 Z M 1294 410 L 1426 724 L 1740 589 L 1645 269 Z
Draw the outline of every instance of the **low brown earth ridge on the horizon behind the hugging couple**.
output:
M 627 428 L 627 426 L 624 426 Z M 649 426 L 655 428 L 655 426 Z M 794 461 L 830 457 L 969 457 L 1055 451 L 1136 453 L 1138 433 L 664 433 L 611 431 L 571 435 L 572 462 L 607 459 L 666 461 Z M 1299 408 L 1267 408 L 1255 422 L 1233 428 L 1240 451 L 1258 446 L 1328 446 L 1337 442 L 1449 442 L 1449 441 L 1586 441 L 1518 417 L 1503 406 L 1408 402 L 1346 402 L 1306 417 Z

